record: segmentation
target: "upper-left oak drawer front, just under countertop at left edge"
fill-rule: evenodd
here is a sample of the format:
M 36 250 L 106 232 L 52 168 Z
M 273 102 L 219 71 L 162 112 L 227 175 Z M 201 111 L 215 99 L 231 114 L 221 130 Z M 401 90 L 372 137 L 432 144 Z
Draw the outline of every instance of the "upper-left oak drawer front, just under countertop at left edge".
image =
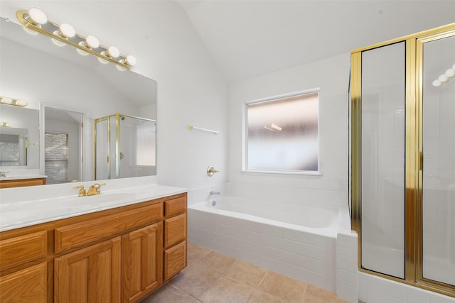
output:
M 0 268 L 13 267 L 48 254 L 48 233 L 38 231 L 0 241 Z

